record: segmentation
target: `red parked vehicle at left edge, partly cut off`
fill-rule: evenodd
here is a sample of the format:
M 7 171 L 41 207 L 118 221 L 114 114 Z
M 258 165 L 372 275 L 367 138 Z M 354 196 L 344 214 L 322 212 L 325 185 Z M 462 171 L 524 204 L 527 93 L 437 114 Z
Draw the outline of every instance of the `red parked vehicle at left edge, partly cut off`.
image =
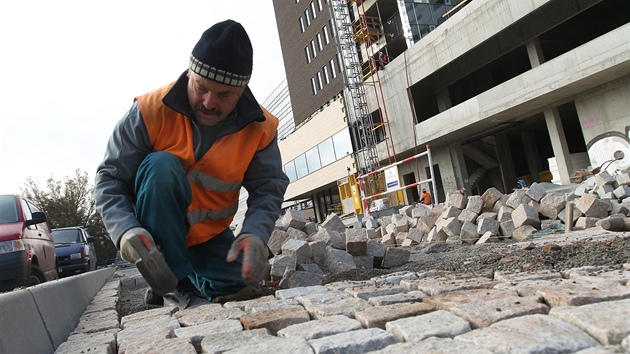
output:
M 57 277 L 46 214 L 18 194 L 0 195 L 0 291 Z

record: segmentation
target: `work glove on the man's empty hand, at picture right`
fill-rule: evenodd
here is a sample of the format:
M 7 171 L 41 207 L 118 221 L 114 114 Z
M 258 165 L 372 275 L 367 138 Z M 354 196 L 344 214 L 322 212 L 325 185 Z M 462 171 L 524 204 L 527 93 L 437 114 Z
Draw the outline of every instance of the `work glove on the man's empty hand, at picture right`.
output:
M 234 262 L 243 252 L 241 277 L 247 284 L 257 284 L 269 275 L 271 266 L 267 262 L 267 246 L 254 234 L 242 233 L 234 242 L 227 254 L 227 261 Z

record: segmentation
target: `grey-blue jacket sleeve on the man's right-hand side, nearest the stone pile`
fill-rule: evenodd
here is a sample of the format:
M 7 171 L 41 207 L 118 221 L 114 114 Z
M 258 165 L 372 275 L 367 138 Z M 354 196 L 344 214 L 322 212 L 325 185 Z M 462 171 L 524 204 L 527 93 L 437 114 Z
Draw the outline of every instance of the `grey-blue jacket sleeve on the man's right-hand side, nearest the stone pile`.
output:
M 289 185 L 289 178 L 282 170 L 277 138 L 276 135 L 267 147 L 254 155 L 242 184 L 249 196 L 241 233 L 258 235 L 265 244 L 280 216 L 284 192 Z

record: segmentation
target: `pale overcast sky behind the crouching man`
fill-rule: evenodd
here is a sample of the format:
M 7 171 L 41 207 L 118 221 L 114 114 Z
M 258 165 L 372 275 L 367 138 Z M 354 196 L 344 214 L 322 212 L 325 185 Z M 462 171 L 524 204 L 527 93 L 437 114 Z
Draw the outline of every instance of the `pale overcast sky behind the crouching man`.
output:
M 226 19 L 249 33 L 262 103 L 285 77 L 272 0 L 3 1 L 0 194 L 77 169 L 93 181 L 133 98 L 176 80 L 201 34 Z

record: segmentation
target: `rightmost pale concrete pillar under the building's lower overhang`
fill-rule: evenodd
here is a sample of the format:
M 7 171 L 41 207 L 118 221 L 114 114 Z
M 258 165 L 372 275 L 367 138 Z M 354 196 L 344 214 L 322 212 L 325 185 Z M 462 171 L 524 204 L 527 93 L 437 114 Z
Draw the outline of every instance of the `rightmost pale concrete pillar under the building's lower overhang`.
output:
M 560 183 L 567 185 L 571 183 L 571 173 L 573 173 L 573 163 L 571 161 L 571 153 L 567 145 L 567 139 L 564 136 L 564 128 L 560 119 L 560 112 L 557 108 L 548 108 L 544 111 L 545 122 L 547 123 L 547 131 L 551 139 L 553 154 L 556 158 L 556 167 L 560 176 Z

